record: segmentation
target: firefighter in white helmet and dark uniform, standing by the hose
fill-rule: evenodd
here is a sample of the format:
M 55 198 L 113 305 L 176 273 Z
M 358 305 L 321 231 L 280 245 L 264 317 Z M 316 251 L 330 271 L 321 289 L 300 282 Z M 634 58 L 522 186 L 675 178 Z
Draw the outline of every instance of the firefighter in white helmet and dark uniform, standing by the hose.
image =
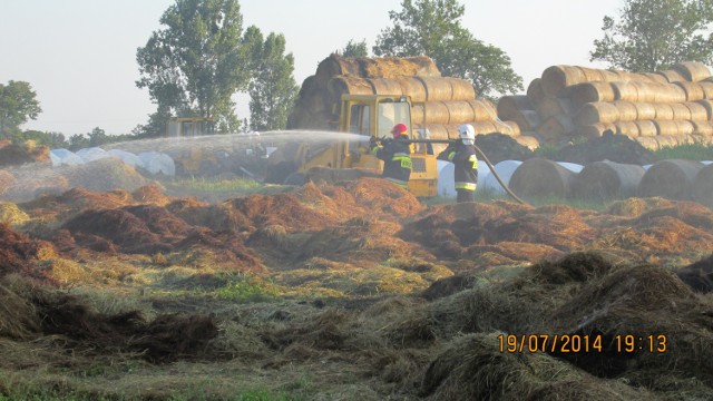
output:
M 473 202 L 478 184 L 478 157 L 476 156 L 476 129 L 470 124 L 458 127 L 460 140 L 448 145 L 438 159 L 453 164 L 457 202 Z

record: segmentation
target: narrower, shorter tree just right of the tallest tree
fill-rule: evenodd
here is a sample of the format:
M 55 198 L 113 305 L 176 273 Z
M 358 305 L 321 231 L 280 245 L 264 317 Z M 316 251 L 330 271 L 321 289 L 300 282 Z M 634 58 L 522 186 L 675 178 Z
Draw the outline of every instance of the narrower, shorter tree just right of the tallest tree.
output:
M 262 37 L 257 33 L 253 32 L 256 38 Z M 294 57 L 285 56 L 285 37 L 270 33 L 261 46 L 255 46 L 253 66 L 255 76 L 248 90 L 251 129 L 284 129 L 300 90 L 293 78 Z

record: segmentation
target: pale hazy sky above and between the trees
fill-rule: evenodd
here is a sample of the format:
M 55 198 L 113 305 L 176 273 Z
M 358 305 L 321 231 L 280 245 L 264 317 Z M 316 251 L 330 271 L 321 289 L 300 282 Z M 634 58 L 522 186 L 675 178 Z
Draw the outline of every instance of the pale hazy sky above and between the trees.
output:
M 602 20 L 624 0 L 461 0 L 461 25 L 511 59 L 524 86 L 554 65 L 603 68 L 590 62 Z M 163 29 L 174 0 L 0 0 L 0 84 L 28 81 L 42 113 L 22 129 L 128 134 L 155 111 L 138 89 L 136 50 Z M 244 26 L 283 33 L 295 59 L 297 85 L 349 40 L 375 43 L 401 0 L 241 0 Z M 248 97 L 237 96 L 240 118 Z

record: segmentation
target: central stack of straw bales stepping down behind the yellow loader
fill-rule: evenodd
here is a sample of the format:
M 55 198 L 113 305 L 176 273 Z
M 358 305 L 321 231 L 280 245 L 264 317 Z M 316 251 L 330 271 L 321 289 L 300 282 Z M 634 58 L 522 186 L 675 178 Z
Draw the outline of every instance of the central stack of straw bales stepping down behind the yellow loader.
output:
M 538 145 L 534 137 L 520 138 L 515 121 L 500 120 L 495 105 L 479 99 L 469 81 L 441 77 L 428 57 L 328 57 L 302 84 L 287 128 L 336 129 L 342 95 L 410 96 L 413 128 L 428 128 L 431 139 L 457 138 L 458 126 L 470 124 L 477 135 L 501 133 L 528 147 Z

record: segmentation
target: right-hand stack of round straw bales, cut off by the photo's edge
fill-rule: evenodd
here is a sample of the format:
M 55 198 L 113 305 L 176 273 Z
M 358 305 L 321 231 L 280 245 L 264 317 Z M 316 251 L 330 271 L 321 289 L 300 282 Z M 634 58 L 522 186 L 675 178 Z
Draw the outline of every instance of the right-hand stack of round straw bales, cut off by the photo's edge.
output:
M 713 77 L 701 62 L 651 74 L 553 66 L 533 80 L 526 96 L 504 97 L 500 104 L 500 119 L 512 119 L 521 131 L 551 144 L 607 129 L 653 149 L 710 143 L 713 136 Z

